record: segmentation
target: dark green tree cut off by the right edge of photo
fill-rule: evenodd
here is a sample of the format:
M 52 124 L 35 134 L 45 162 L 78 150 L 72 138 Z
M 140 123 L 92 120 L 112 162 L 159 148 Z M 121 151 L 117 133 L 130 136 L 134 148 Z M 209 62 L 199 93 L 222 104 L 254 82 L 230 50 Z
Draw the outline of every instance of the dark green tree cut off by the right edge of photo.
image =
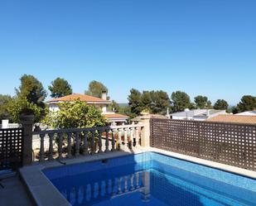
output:
M 253 111 L 256 109 L 256 97 L 251 95 L 244 95 L 238 103 L 236 113 L 243 113 L 245 111 Z

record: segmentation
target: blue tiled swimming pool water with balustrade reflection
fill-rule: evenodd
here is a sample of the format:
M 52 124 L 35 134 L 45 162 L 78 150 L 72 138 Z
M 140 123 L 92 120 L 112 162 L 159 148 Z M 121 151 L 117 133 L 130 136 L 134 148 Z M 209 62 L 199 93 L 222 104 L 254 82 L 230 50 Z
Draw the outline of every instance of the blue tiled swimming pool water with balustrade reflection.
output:
M 43 172 L 72 205 L 256 205 L 256 180 L 154 152 Z

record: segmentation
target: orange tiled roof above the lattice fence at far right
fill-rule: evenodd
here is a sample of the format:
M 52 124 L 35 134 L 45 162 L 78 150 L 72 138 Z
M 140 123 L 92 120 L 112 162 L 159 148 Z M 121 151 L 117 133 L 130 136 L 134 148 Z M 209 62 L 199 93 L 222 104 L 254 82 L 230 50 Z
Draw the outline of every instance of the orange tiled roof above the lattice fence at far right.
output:
M 218 115 L 216 117 L 211 117 L 207 121 L 209 122 L 234 122 L 234 123 L 246 123 L 246 124 L 256 124 L 256 116 L 249 115 Z

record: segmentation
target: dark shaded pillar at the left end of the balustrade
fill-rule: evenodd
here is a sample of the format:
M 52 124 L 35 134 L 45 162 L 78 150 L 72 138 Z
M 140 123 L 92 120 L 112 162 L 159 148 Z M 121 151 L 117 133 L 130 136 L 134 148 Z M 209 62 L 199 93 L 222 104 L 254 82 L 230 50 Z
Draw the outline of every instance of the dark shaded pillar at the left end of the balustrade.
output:
M 22 164 L 32 164 L 32 130 L 34 115 L 21 115 L 20 120 L 23 128 L 23 151 L 22 151 Z

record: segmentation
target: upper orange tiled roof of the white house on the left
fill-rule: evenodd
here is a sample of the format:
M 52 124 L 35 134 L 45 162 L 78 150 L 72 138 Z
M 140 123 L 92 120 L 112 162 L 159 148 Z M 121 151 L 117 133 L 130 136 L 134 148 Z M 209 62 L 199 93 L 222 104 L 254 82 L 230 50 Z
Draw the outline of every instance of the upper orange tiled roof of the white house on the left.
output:
M 61 98 L 53 98 L 50 101 L 47 101 L 46 103 L 74 102 L 77 99 L 86 103 L 111 103 L 110 101 L 104 100 L 102 98 L 95 98 L 93 96 L 80 93 L 72 93 Z

